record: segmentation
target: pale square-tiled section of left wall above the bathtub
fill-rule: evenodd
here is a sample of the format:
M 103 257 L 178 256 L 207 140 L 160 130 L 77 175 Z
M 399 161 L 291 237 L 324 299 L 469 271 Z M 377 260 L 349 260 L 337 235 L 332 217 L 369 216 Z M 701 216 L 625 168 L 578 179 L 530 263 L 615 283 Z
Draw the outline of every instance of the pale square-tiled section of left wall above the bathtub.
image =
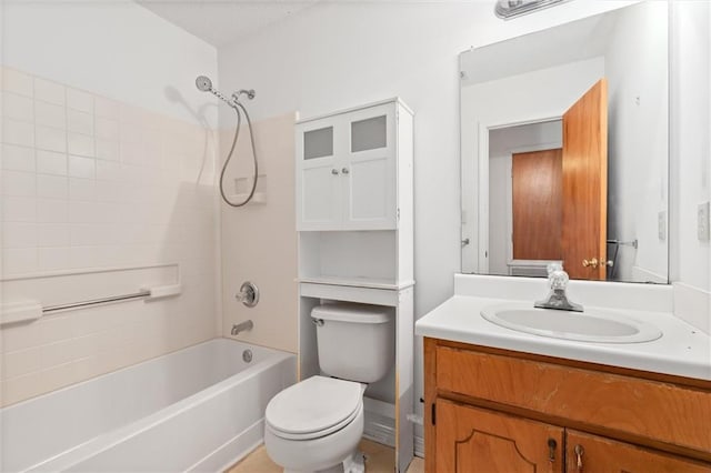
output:
M 1 141 L 0 281 L 178 263 L 184 291 L 0 328 L 0 405 L 217 336 L 211 131 L 3 68 Z

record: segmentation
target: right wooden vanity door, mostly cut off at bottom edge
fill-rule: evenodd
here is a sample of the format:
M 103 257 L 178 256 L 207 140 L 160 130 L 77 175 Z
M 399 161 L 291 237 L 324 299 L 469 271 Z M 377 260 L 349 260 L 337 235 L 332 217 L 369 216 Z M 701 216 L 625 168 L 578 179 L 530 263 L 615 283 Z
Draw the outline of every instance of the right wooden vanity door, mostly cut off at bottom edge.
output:
M 565 433 L 568 473 L 709 473 L 711 464 L 577 431 Z

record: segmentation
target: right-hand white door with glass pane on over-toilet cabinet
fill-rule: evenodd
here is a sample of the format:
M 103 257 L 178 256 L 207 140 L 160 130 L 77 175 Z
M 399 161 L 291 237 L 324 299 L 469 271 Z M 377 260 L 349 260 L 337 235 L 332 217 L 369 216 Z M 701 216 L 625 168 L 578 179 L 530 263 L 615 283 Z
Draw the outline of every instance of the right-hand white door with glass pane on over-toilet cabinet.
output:
M 395 104 L 346 115 L 343 230 L 397 229 Z

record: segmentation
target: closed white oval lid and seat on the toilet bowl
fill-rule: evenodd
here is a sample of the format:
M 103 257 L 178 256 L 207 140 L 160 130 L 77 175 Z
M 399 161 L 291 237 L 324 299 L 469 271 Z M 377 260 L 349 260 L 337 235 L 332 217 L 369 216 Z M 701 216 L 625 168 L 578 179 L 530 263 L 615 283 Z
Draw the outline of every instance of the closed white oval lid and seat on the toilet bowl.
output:
M 360 383 L 312 376 L 277 394 L 267 405 L 269 426 L 287 439 L 312 439 L 347 425 L 362 404 Z

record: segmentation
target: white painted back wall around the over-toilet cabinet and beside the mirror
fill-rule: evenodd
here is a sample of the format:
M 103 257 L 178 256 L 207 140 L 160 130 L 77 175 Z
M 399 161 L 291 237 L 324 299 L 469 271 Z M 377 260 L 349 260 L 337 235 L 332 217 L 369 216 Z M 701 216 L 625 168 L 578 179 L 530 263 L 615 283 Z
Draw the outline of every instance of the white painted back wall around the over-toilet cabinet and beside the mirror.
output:
M 504 22 L 492 1 L 328 2 L 220 48 L 220 83 L 257 89 L 250 110 L 261 118 L 294 110 L 310 117 L 394 95 L 414 110 L 421 316 L 452 294 L 460 270 L 458 54 L 620 3 L 570 2 Z M 421 361 L 418 349 L 415 397 L 422 394 Z

